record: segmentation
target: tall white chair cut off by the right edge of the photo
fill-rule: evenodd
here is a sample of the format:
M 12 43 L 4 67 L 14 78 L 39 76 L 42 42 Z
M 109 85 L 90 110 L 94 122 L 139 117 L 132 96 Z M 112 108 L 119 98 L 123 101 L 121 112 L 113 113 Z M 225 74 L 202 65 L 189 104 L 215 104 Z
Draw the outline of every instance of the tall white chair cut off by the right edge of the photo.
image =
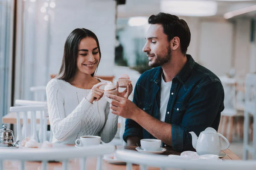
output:
M 253 116 L 253 128 L 250 126 L 250 116 Z M 253 132 L 253 144 L 250 145 L 249 130 Z M 251 153 L 256 159 L 256 74 L 247 74 L 245 80 L 245 107 L 244 107 L 244 152 L 243 159 L 248 159 Z

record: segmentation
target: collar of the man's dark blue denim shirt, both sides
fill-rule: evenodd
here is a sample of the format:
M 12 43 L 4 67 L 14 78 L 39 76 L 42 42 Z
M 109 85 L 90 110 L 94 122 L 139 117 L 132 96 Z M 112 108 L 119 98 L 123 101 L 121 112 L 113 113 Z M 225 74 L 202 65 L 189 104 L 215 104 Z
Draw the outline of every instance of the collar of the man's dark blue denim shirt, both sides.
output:
M 186 57 L 188 59 L 186 64 L 181 69 L 180 73 L 175 76 L 182 84 L 184 84 L 195 65 L 195 60 L 191 57 L 191 55 L 186 54 Z M 157 84 L 161 80 L 162 73 L 163 68 L 158 67 L 154 77 L 150 81 Z

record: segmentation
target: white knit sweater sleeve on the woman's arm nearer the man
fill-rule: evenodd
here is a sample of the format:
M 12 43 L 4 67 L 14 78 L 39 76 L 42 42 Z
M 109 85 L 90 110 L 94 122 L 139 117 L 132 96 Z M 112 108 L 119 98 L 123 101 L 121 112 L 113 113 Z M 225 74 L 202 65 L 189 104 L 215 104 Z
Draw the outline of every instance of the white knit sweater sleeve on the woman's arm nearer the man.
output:
M 105 143 L 111 142 L 116 135 L 118 116 L 110 112 L 109 102 L 105 108 L 105 124 L 102 130 L 99 132 L 102 141 Z

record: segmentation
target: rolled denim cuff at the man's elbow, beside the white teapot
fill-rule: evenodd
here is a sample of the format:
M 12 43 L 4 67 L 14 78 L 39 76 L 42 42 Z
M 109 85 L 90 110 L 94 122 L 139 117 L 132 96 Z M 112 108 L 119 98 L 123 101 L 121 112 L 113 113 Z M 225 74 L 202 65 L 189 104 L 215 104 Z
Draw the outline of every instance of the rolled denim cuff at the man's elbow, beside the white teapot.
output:
M 175 150 L 183 150 L 183 133 L 181 126 L 172 124 L 172 147 Z

